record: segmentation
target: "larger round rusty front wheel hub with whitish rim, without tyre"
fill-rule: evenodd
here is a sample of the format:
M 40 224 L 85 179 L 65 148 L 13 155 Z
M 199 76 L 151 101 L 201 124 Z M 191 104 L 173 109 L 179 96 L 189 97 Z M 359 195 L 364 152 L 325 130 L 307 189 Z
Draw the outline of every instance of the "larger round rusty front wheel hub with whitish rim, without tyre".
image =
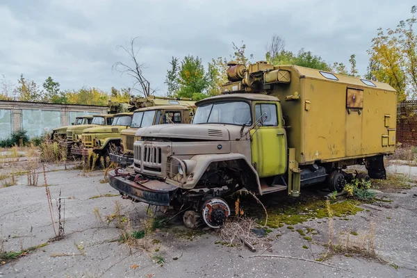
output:
M 202 218 L 207 226 L 213 229 L 222 227 L 229 215 L 230 208 L 224 199 L 211 198 L 202 206 Z

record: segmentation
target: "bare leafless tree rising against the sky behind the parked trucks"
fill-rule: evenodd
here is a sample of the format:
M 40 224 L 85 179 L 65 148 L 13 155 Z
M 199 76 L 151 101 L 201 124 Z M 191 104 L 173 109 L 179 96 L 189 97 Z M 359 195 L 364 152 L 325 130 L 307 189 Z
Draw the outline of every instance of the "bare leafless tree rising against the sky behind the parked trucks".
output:
M 131 76 L 133 79 L 133 87 L 131 90 L 135 90 L 145 97 L 149 97 L 154 94 L 156 90 L 150 88 L 149 81 L 145 78 L 143 74 L 143 69 L 145 68 L 144 63 L 140 63 L 138 60 L 138 52 L 140 48 L 135 47 L 135 41 L 139 37 L 131 39 L 129 46 L 119 45 L 118 47 L 123 49 L 126 54 L 128 54 L 131 65 L 122 62 L 116 62 L 112 69 L 120 72 L 120 75 L 126 74 Z

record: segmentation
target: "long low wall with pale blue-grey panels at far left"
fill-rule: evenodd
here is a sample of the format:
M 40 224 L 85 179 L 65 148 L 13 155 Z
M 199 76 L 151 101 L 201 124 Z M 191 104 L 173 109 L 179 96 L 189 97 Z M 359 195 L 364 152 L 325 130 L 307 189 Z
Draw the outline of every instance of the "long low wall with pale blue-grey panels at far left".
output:
M 106 109 L 106 106 L 0 101 L 0 139 L 19 129 L 28 131 L 29 137 L 41 136 L 45 131 L 70 125 L 76 116 L 106 113 Z

